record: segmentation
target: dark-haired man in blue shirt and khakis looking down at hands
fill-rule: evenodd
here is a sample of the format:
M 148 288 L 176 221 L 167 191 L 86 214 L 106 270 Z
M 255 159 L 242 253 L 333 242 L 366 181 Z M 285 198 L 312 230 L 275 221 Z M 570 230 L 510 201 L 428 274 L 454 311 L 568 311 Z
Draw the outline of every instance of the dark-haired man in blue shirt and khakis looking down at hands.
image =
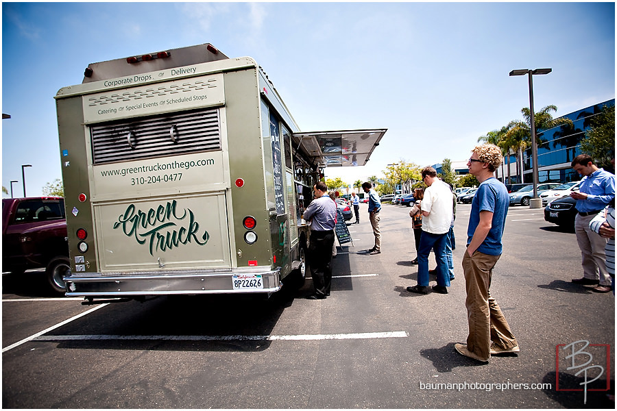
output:
M 596 286 L 592 288 L 594 292 L 609 292 L 611 277 L 606 269 L 606 239 L 593 232 L 589 223 L 615 198 L 615 175 L 598 169 L 588 154 L 577 155 L 572 161 L 572 169 L 583 176 L 579 192 L 570 194 L 570 197 L 577 200 L 578 214 L 574 228 L 583 256 L 583 277 L 572 279 L 572 282 Z

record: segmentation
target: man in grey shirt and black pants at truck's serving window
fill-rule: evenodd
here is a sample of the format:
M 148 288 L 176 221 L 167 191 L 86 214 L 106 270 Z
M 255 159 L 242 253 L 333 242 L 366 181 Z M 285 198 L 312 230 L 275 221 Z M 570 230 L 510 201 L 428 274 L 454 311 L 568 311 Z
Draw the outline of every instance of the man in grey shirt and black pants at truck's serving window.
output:
M 313 201 L 302 218 L 311 221 L 309 236 L 309 266 L 315 292 L 309 299 L 325 299 L 330 295 L 332 283 L 332 247 L 334 247 L 337 205 L 328 195 L 324 182 L 313 186 Z

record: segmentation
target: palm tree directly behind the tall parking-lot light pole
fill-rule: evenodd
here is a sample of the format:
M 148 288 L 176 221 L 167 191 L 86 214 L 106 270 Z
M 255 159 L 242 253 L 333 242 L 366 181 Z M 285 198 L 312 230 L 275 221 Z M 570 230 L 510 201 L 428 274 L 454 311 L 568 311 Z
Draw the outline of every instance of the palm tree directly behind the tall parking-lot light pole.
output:
M 504 136 L 505 145 L 516 153 L 516 168 L 520 175 L 520 182 L 523 180 L 522 153 L 531 146 L 531 111 L 524 107 L 520 110 L 523 114 L 524 121 L 514 120 L 508 125 L 509 130 Z M 572 125 L 572 120 L 563 117 L 553 119 L 551 112 L 557 112 L 556 105 L 547 105 L 534 115 L 535 120 L 535 135 L 537 144 L 540 146 L 543 142 L 540 136 L 537 135 L 538 129 L 550 129 L 558 125 Z M 535 164 L 537 166 L 537 164 Z

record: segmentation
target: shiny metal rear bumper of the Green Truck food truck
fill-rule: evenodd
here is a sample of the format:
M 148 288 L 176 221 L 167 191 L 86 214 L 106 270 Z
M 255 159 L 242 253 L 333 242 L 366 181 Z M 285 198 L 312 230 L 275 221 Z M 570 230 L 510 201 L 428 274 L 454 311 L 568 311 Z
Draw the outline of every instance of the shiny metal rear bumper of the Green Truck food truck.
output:
M 174 271 L 173 273 L 72 273 L 64 278 L 69 297 L 127 297 L 133 295 L 194 295 L 264 293 L 280 290 L 280 268 L 275 270 Z M 263 288 L 235 288 L 234 276 L 261 275 Z M 238 278 L 238 277 L 236 277 Z

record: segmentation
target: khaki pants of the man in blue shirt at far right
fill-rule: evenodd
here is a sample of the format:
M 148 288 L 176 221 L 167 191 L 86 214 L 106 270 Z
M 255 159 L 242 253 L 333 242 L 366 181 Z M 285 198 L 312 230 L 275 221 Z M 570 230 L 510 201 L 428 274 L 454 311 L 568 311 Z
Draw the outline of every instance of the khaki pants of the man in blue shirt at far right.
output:
M 606 253 L 604 251 L 607 239 L 590 229 L 589 223 L 594 217 L 595 215 L 581 216 L 581 214 L 577 214 L 574 220 L 577 242 L 583 256 L 583 277 L 599 279 L 600 285 L 610 287 L 611 276 L 606 269 Z

